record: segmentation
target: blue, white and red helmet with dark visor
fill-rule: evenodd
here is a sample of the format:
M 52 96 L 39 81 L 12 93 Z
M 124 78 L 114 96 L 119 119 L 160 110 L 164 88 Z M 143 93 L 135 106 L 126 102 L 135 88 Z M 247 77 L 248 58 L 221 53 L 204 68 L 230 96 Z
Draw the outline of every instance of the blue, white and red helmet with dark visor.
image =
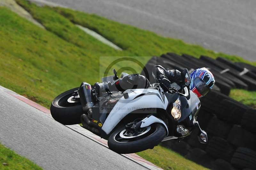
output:
M 211 71 L 204 68 L 194 70 L 191 74 L 190 90 L 197 97 L 205 96 L 214 86 L 215 79 Z

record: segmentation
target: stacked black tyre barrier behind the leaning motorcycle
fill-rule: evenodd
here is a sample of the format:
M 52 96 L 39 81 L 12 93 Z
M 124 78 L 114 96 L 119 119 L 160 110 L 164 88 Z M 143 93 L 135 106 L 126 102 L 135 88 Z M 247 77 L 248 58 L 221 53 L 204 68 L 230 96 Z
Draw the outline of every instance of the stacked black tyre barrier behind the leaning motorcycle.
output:
M 186 158 L 211 169 L 256 169 L 256 110 L 228 97 L 231 88 L 256 90 L 256 67 L 244 63 L 232 63 L 224 58 L 216 60 L 201 56 L 174 53 L 152 57 L 145 69 L 154 65 L 165 69 L 190 72 L 206 67 L 214 75 L 214 89 L 201 98 L 202 107 L 197 117 L 209 138 L 208 144 L 200 144 L 198 129 L 184 140 L 169 140 L 161 145 Z M 142 75 L 144 71 L 141 72 Z M 147 77 L 151 83 L 155 79 Z

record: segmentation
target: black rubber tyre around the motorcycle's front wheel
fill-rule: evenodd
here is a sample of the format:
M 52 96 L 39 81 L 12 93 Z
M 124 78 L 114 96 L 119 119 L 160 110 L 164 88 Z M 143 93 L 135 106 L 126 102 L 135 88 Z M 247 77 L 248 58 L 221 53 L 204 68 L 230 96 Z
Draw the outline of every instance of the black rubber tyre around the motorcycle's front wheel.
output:
M 166 136 L 166 129 L 160 123 L 151 124 L 151 129 L 154 129 L 153 133 L 147 132 L 144 138 L 140 136 L 139 140 L 131 142 L 118 142 L 115 138 L 120 137 L 120 132 L 124 130 L 124 127 L 115 130 L 108 138 L 108 147 L 116 153 L 135 153 L 144 151 L 147 149 L 153 149 L 157 144 L 159 144 Z M 128 140 L 128 139 L 127 139 Z

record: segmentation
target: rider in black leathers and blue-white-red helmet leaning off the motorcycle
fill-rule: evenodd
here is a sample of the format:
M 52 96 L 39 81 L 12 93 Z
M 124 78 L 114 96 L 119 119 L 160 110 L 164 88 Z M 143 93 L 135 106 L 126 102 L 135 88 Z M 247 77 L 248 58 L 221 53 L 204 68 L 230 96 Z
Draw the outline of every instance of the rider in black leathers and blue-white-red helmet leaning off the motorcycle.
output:
M 171 86 L 171 82 L 181 82 L 181 73 L 179 70 L 165 70 L 161 65 L 155 65 L 152 75 L 156 82 L 163 83 L 167 88 Z M 215 83 L 212 73 L 206 68 L 199 68 L 191 73 L 190 90 L 198 97 L 205 96 Z M 160 82 L 159 82 L 160 81 Z M 100 95 L 102 92 L 125 91 L 127 89 L 140 89 L 150 87 L 150 83 L 145 76 L 132 74 L 119 78 L 117 80 L 104 83 L 95 83 L 95 92 Z

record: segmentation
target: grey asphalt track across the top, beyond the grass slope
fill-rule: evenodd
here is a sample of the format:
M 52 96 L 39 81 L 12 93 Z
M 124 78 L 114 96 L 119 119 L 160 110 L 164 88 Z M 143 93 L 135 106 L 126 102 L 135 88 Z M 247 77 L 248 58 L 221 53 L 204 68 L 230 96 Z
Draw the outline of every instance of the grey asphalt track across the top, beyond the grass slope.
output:
M 32 0 L 69 8 L 256 61 L 255 0 Z

